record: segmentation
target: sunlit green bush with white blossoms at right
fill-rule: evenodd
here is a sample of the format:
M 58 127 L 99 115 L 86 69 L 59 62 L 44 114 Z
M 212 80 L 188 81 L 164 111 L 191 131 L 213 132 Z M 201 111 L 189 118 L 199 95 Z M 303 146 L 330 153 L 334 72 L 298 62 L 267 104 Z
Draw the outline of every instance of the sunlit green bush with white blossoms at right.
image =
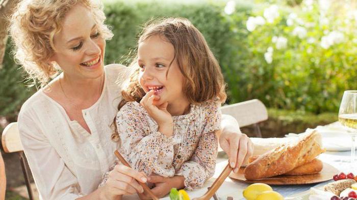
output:
M 269 4 L 255 7 L 246 21 L 250 32 L 242 72 L 245 80 L 241 81 L 242 76 L 234 80 L 244 91 L 231 96 L 234 102 L 259 98 L 272 108 L 338 111 L 343 91 L 357 88 L 353 81 L 357 15 L 346 2 L 337 1 L 324 8 L 327 3 L 304 1 L 295 8 Z M 236 14 L 230 17 L 235 20 Z M 237 27 L 241 23 L 238 20 Z

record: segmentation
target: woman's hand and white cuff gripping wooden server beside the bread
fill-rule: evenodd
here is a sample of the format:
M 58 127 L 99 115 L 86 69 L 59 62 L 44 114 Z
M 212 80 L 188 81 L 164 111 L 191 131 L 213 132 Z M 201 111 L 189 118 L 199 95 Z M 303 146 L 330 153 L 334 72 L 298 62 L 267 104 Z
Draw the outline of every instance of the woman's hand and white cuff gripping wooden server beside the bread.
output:
M 242 134 L 237 120 L 230 115 L 222 115 L 221 131 L 217 134 L 219 145 L 228 155 L 234 172 L 253 154 L 253 143 Z

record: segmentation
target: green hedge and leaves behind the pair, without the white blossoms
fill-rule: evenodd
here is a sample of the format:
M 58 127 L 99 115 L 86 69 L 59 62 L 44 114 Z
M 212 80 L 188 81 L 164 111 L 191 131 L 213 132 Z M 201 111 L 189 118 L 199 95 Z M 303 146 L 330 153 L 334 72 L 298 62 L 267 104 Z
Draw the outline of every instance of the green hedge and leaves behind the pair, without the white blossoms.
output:
M 135 48 L 137 34 L 145 21 L 162 16 L 186 17 L 202 32 L 220 62 L 228 85 L 228 103 L 259 98 L 272 108 L 337 112 L 343 90 L 356 86 L 353 79 L 355 59 L 351 59 L 355 54 L 349 51 L 346 59 L 340 59 L 348 49 L 340 46 L 335 55 L 334 51 L 319 51 L 307 56 L 301 50 L 305 46 L 291 45 L 289 49 L 274 51 L 274 61 L 267 64 L 264 53 L 272 45 L 271 38 L 275 34 L 291 34 L 285 21 L 292 10 L 285 4 L 279 7 L 279 21 L 257 28 L 257 31 L 248 31 L 248 17 L 262 15 L 268 6 L 237 2 L 235 12 L 227 15 L 223 11 L 223 1 L 107 1 L 107 23 L 111 25 L 114 37 L 107 43 L 106 63 L 130 62 L 127 55 Z M 293 10 L 302 12 L 300 7 Z M 296 39 L 294 44 L 299 41 Z M 16 116 L 20 105 L 34 92 L 34 89 L 29 92 L 24 87 L 21 71 L 17 70 L 19 66 L 13 63 L 9 50 L 5 68 L 0 70 L 0 116 Z M 328 55 L 330 57 L 326 58 Z M 344 72 L 346 61 L 349 70 Z

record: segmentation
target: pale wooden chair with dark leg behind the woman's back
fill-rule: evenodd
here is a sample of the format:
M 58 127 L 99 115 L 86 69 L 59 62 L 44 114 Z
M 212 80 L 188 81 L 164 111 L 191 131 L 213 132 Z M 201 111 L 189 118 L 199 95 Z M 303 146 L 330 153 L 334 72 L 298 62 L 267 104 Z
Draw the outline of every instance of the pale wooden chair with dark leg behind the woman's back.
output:
M 23 154 L 23 147 L 20 141 L 20 135 L 17 128 L 17 122 L 10 123 L 5 127 L 1 142 L 3 144 L 5 153 L 18 152 L 23 176 L 25 178 L 26 187 L 29 192 L 29 198 L 30 200 L 32 200 L 33 194 L 30 185 L 30 178 L 26 168 L 25 157 Z

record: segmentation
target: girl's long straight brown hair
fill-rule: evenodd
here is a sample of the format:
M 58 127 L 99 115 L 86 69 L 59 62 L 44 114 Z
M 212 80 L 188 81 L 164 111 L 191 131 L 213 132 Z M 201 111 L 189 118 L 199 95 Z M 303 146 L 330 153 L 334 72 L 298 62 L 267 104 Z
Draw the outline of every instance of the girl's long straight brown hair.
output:
M 216 97 L 224 103 L 225 83 L 218 61 L 199 30 L 185 18 L 167 18 L 149 22 L 143 29 L 139 44 L 151 36 L 160 36 L 171 43 L 182 75 L 185 77 L 183 91 L 191 104 L 200 104 Z M 171 61 L 171 63 L 172 63 Z M 139 67 L 136 59 L 131 64 L 136 68 L 123 87 L 122 101 L 118 110 L 127 102 L 140 102 L 145 92 L 139 85 Z M 115 119 L 114 119 L 115 124 Z M 114 132 L 112 140 L 118 141 Z

